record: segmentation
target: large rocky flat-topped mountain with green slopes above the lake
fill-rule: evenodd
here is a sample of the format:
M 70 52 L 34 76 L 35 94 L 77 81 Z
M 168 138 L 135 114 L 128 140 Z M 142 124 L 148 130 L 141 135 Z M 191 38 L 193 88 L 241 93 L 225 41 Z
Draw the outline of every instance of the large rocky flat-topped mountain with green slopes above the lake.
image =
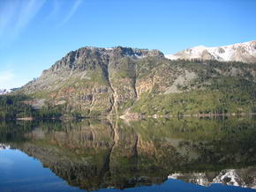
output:
M 169 61 L 158 50 L 80 48 L 17 93 L 31 96 L 35 108 L 60 107 L 67 114 L 248 113 L 255 106 L 255 79 L 253 64 Z M 250 106 L 230 99 L 241 92 Z

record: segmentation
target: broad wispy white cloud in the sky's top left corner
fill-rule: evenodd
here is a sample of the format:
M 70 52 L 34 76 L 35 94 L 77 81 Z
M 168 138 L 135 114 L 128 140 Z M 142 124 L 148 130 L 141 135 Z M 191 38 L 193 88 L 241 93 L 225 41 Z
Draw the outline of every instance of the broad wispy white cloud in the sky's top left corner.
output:
M 41 10 L 45 0 L 2 0 L 0 38 L 15 38 Z

